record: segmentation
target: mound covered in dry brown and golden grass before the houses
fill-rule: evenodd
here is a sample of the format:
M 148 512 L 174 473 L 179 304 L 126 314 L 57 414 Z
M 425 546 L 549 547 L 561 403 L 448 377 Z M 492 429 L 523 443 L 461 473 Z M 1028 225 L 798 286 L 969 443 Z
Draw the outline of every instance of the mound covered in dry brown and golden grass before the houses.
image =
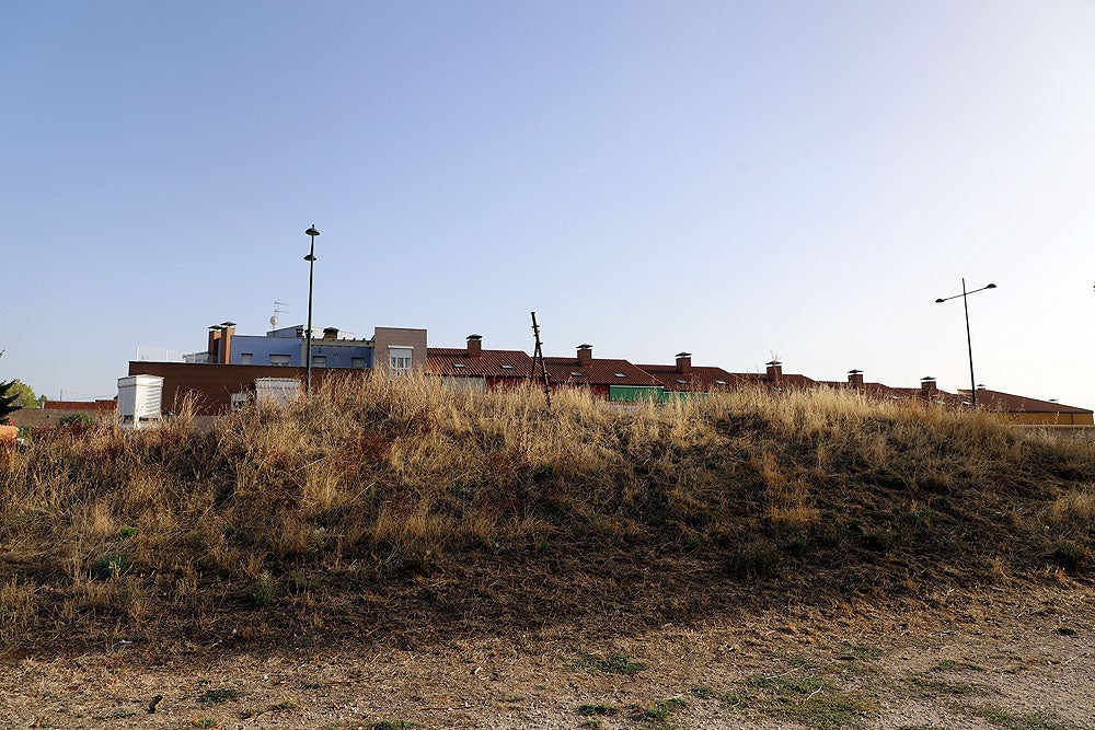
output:
M 0 451 L 0 646 L 408 646 L 1090 581 L 1095 445 L 831 391 L 331 382 Z

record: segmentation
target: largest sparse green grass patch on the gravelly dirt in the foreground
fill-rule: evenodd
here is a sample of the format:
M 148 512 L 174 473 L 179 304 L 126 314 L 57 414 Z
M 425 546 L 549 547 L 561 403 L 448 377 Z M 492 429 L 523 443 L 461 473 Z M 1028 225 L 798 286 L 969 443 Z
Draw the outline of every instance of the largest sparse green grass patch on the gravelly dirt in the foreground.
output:
M 818 674 L 795 672 L 779 676 L 754 675 L 741 683 L 744 703 L 761 712 L 817 730 L 863 727 L 871 705 Z

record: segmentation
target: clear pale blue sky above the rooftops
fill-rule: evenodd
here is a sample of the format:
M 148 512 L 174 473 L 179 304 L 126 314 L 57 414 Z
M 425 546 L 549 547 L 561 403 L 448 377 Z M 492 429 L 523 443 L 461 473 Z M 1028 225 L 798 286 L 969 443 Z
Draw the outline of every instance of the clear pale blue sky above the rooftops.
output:
M 1095 407 L 1095 3 L 7 2 L 0 378 L 275 300 Z

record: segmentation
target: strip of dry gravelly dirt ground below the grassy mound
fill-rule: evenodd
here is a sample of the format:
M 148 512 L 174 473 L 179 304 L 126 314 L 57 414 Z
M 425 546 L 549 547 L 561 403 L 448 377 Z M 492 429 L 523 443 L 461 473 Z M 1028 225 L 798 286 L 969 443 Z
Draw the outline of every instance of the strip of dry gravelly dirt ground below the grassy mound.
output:
M 1095 594 L 895 615 L 769 613 L 641 636 L 575 631 L 180 657 L 10 662 L 11 728 L 1095 728 Z M 162 696 L 155 712 L 148 711 Z M 406 723 L 406 725 L 404 725 Z

